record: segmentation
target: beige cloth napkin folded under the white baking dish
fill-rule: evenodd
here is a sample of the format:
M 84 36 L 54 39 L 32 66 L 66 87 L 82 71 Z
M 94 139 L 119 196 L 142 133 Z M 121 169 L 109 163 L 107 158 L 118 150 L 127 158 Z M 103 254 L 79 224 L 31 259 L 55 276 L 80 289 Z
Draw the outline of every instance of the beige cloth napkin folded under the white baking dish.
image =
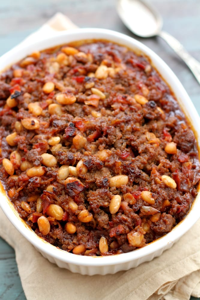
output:
M 31 41 L 76 27 L 57 13 L 31 35 Z M 28 43 L 27 38 L 23 43 Z M 28 300 L 188 300 L 200 297 L 200 220 L 160 257 L 129 271 L 105 276 L 73 274 L 35 250 L 0 209 L 0 235 L 14 249 Z

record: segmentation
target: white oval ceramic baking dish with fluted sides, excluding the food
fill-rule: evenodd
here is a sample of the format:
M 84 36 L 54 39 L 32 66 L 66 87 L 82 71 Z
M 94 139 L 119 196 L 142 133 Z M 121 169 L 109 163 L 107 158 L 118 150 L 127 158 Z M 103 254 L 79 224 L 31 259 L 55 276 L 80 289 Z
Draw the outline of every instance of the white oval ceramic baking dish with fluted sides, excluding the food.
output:
M 43 40 L 37 41 L 33 44 L 29 44 L 27 46 L 22 44 L 16 46 L 0 58 L 0 70 L 4 70 L 6 67 L 9 67 L 11 64 L 19 61 L 35 50 L 42 50 L 55 45 L 84 39 L 106 39 L 125 45 L 133 50 L 136 50 L 137 52 L 142 51 L 145 53 L 151 59 L 152 64 L 157 68 L 157 70 L 172 88 L 172 91 L 178 99 L 180 106 L 184 110 L 185 115 L 189 119 L 193 128 L 195 128 L 196 139 L 198 145 L 200 144 L 200 127 L 198 126 L 200 124 L 200 118 L 178 78 L 166 65 L 166 63 L 151 49 L 135 39 L 121 33 L 106 29 L 73 29 L 64 32 L 58 32 L 52 35 L 50 38 L 44 38 Z M 107 273 L 115 273 L 121 270 L 128 270 L 138 266 L 142 262 L 149 261 L 162 254 L 164 250 L 172 247 L 173 243 L 177 241 L 185 232 L 187 232 L 187 230 L 189 230 L 199 219 L 199 198 L 200 195 L 198 193 L 189 213 L 181 223 L 175 226 L 171 232 L 148 244 L 147 246 L 119 255 L 90 257 L 68 253 L 39 238 L 34 231 L 32 231 L 25 224 L 25 222 L 20 219 L 10 200 L 7 198 L 3 187 L 0 186 L 1 208 L 16 229 L 18 229 L 19 232 L 21 232 L 21 234 L 27 238 L 27 240 L 30 241 L 30 243 L 33 244 L 34 247 L 37 248 L 37 250 L 40 251 L 44 257 L 49 259 L 50 262 L 56 263 L 59 267 L 67 268 L 72 272 L 88 275 L 104 275 Z

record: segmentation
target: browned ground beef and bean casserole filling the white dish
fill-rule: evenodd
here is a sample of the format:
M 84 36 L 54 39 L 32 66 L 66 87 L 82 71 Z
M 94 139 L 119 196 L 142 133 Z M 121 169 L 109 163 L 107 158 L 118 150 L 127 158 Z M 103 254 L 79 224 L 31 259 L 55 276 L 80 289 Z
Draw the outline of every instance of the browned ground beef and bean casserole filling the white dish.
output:
M 19 216 L 74 254 L 145 246 L 187 214 L 197 143 L 147 57 L 108 41 L 36 51 L 0 75 L 0 178 Z

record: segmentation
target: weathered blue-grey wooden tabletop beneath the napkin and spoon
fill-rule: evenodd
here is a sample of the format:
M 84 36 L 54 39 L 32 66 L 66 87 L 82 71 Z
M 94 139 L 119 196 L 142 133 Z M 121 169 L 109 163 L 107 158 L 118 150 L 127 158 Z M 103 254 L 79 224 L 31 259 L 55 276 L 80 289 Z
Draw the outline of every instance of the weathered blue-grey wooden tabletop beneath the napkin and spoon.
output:
M 200 1 L 149 0 L 164 19 L 164 30 L 174 35 L 200 61 Z M 149 46 L 181 80 L 200 114 L 200 85 L 187 66 L 160 38 L 139 39 L 122 24 L 116 0 L 6 0 L 0 1 L 0 55 L 38 29 L 56 12 L 79 27 L 101 27 L 126 33 Z M 14 250 L 0 238 L 0 299 L 25 300 Z M 191 298 L 196 299 L 196 298 Z M 181 300 L 181 299 L 180 299 Z

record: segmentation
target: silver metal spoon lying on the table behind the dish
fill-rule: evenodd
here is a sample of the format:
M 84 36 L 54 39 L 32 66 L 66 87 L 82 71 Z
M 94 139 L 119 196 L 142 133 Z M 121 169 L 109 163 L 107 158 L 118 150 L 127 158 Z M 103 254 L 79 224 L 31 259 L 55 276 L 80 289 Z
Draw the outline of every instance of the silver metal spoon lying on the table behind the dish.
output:
M 177 39 L 162 31 L 163 20 L 154 7 L 145 0 L 118 0 L 117 11 L 121 20 L 135 35 L 142 38 L 158 35 L 163 38 L 183 59 L 200 84 L 200 62 Z

